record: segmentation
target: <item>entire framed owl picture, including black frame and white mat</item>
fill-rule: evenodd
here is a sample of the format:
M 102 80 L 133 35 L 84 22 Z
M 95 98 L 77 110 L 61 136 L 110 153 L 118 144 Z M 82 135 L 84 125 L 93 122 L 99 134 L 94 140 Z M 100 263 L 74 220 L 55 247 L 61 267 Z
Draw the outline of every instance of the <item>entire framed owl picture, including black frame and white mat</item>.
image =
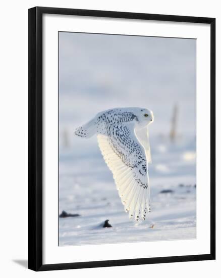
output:
M 215 259 L 215 19 L 29 9 L 29 268 Z

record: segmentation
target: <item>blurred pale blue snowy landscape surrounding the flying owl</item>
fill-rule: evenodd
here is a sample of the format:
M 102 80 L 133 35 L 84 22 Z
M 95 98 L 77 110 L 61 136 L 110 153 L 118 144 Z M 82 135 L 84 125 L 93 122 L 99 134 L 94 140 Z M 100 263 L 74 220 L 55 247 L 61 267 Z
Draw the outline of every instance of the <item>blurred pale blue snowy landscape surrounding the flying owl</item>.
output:
M 117 107 L 154 113 L 152 213 L 138 226 L 124 212 L 96 137 L 74 137 L 76 127 Z M 80 215 L 60 218 L 60 245 L 194 238 L 196 40 L 59 32 L 59 163 L 60 213 Z M 113 229 L 98 228 L 105 219 Z

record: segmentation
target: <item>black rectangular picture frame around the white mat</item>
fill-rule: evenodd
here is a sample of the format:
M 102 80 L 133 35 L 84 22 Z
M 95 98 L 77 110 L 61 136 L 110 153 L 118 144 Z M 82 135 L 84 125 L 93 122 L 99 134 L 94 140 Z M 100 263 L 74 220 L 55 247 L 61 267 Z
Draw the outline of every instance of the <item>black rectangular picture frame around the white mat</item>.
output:
M 205 23 L 210 25 L 210 253 L 203 255 L 122 259 L 109 261 L 42 263 L 42 15 L 79 15 L 123 19 Z M 28 268 L 35 271 L 138 265 L 215 259 L 215 18 L 34 7 L 28 11 Z

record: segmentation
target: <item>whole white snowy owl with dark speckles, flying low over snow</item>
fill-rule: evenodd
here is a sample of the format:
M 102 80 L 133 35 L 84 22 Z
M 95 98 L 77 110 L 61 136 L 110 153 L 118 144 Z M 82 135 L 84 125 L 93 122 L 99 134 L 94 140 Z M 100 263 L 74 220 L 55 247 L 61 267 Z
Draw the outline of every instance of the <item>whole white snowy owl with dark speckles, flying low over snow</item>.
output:
M 129 218 L 145 220 L 150 212 L 148 163 L 151 163 L 148 125 L 153 112 L 145 108 L 115 108 L 98 113 L 78 127 L 75 135 L 97 135 L 103 158 Z

